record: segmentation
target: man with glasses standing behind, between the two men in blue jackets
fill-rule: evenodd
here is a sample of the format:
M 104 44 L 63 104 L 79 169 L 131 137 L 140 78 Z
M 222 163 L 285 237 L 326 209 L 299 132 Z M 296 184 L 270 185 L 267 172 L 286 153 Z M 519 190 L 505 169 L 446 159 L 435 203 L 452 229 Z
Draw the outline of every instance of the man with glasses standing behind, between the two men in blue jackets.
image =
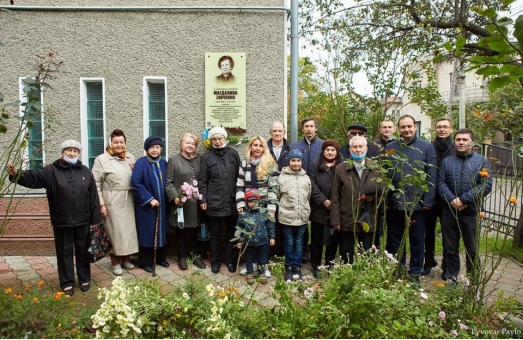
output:
M 441 168 L 441 162 L 444 158 L 456 154 L 456 146 L 450 135 L 452 134 L 452 122 L 449 118 L 438 118 L 436 120 L 436 138 L 432 142 L 436 151 L 438 169 Z M 443 204 L 441 197 L 436 195 L 436 202 L 432 209 L 427 212 L 427 224 L 425 227 L 425 264 L 421 275 L 428 275 L 433 267 L 438 265 L 434 258 L 436 248 L 436 221 L 443 213 Z M 443 244 L 443 256 L 445 256 L 445 242 Z M 442 267 L 444 265 L 442 264 Z

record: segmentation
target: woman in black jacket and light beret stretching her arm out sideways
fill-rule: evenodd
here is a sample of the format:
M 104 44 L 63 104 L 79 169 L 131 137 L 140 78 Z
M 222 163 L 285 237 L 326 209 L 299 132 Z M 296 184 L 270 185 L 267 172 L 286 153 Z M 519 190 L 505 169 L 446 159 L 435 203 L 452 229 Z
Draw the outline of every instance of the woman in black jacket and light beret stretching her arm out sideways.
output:
M 62 158 L 38 170 L 20 171 L 11 162 L 7 172 L 12 182 L 30 189 L 44 188 L 56 246 L 60 287 L 74 294 L 74 263 L 80 290 L 90 288 L 91 264 L 87 259 L 89 227 L 102 222 L 98 190 L 91 171 L 78 160 L 82 146 L 66 140 L 61 146 Z M 74 245 L 74 253 L 73 253 Z

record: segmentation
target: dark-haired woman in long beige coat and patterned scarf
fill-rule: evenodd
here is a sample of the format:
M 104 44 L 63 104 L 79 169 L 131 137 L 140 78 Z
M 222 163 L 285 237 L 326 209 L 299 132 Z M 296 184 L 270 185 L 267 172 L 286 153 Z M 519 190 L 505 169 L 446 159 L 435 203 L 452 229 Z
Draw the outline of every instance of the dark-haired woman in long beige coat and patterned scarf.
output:
M 126 152 L 126 143 L 123 131 L 115 129 L 105 152 L 94 160 L 92 170 L 98 188 L 102 219 L 113 246 L 109 255 L 115 275 L 123 274 L 122 267 L 133 269 L 131 254 L 138 252 L 131 189 L 135 159 Z

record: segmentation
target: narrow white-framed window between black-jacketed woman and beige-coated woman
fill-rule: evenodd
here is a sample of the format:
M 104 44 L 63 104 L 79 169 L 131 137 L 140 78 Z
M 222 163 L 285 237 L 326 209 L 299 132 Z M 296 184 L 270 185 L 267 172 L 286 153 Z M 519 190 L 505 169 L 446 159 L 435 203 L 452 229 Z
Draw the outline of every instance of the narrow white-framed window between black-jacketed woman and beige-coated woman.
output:
M 80 84 L 82 159 L 90 169 L 105 150 L 104 85 L 103 79 L 82 79 Z

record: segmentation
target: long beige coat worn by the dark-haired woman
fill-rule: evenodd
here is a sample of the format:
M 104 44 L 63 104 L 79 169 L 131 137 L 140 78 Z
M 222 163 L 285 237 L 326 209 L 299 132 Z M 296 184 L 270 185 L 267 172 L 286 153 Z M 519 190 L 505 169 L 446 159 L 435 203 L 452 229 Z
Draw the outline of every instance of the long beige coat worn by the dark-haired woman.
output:
M 134 220 L 134 201 L 131 189 L 131 168 L 134 156 L 127 153 L 125 160 L 104 152 L 96 157 L 93 176 L 98 188 L 100 206 L 108 215 L 103 219 L 113 245 L 110 253 L 124 256 L 138 252 L 138 236 Z

